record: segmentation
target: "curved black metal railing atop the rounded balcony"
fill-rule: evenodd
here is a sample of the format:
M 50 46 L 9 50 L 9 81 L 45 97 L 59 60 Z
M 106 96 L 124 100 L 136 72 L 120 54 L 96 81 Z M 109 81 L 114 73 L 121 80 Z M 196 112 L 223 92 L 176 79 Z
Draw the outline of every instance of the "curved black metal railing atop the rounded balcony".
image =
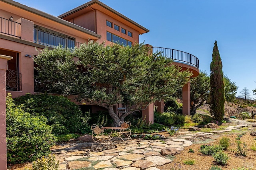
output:
M 174 62 L 180 62 L 199 68 L 199 60 L 192 54 L 162 47 L 152 47 L 152 52 L 162 52 L 162 55 L 166 58 L 172 59 Z

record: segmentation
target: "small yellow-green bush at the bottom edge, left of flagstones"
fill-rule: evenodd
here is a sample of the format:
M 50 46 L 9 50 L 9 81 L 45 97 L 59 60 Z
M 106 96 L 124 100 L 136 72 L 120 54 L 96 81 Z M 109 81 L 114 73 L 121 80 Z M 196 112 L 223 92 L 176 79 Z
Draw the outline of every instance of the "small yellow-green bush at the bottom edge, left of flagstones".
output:
M 56 162 L 55 155 L 49 154 L 48 158 L 42 156 L 41 159 L 32 163 L 31 168 L 25 168 L 25 170 L 58 170 L 59 161 Z

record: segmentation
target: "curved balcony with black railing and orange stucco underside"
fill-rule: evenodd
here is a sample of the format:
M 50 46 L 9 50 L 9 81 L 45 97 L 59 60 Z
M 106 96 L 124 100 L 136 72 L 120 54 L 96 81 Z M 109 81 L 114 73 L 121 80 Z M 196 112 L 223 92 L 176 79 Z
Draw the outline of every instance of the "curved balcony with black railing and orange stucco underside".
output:
M 173 64 L 181 66 L 182 70 L 189 69 L 192 73 L 192 77 L 196 77 L 199 74 L 199 60 L 196 56 L 186 53 L 184 51 L 162 48 L 162 47 L 152 47 L 152 53 L 162 52 L 162 55 L 168 59 L 174 61 Z

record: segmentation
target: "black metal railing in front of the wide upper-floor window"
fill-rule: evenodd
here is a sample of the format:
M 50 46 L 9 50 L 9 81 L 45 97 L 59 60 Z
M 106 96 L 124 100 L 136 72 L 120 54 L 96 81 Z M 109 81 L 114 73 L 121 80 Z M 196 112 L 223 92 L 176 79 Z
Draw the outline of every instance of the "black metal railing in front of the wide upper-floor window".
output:
M 79 47 L 81 43 L 72 40 L 72 38 L 62 37 L 41 29 L 34 28 L 34 43 L 54 47 L 63 45 L 63 47 L 74 48 Z

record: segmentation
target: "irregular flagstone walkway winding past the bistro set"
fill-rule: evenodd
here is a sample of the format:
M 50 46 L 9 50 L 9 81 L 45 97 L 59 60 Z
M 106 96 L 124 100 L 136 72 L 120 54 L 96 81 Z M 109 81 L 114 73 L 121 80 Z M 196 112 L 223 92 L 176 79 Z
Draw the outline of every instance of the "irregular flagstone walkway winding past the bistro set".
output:
M 128 145 L 118 145 L 116 149 L 104 150 L 102 152 L 89 152 L 92 143 L 72 143 L 58 145 L 52 150 L 56 159 L 60 161 L 59 170 L 159 170 L 156 166 L 172 162 L 166 156 L 160 154 L 162 149 L 173 148 L 178 151 L 189 147 L 191 141 L 204 140 L 216 133 L 231 130 L 240 130 L 252 123 L 230 119 L 236 126 L 229 126 L 223 130 L 214 130 L 211 133 L 198 131 L 178 131 L 178 137 L 169 137 L 163 140 L 133 139 Z

